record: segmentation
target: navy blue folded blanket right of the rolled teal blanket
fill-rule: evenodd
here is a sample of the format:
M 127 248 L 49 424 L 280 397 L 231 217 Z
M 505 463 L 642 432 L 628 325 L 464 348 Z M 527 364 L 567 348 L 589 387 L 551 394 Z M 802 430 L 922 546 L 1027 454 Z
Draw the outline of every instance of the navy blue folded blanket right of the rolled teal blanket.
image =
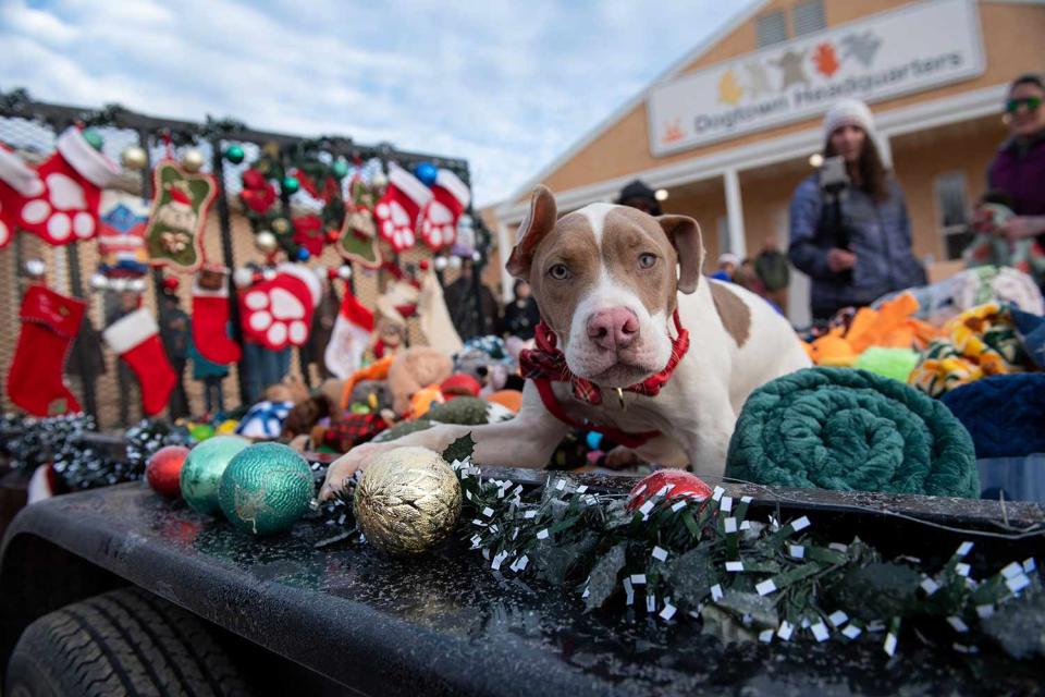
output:
M 976 457 L 1045 453 L 1045 372 L 985 378 L 941 401 L 969 430 Z

